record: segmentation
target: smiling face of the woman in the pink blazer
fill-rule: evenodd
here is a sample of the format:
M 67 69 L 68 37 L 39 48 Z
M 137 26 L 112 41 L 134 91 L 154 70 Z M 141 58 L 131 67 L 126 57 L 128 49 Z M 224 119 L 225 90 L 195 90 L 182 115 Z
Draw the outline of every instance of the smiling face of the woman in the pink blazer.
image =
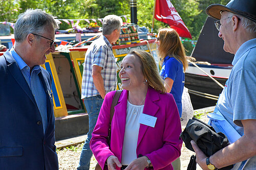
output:
M 122 88 L 131 90 L 140 88 L 144 85 L 144 76 L 141 70 L 141 61 L 139 57 L 129 54 L 125 56 L 121 63 L 119 77 L 122 82 Z

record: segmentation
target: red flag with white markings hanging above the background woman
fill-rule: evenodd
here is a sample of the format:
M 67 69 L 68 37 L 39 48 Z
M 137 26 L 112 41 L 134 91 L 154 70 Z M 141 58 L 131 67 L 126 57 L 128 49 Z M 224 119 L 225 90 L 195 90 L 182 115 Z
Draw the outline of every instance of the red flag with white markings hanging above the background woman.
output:
M 175 29 L 180 37 L 192 39 L 185 23 L 170 0 L 156 0 L 155 18 Z

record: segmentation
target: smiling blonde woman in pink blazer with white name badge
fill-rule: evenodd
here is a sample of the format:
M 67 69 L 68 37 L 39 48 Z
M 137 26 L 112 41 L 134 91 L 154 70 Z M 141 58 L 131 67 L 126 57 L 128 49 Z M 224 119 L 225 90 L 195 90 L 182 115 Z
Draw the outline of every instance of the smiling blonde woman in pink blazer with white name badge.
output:
M 173 95 L 166 93 L 153 56 L 133 50 L 124 57 L 119 77 L 124 89 L 107 136 L 115 91 L 106 94 L 90 148 L 103 168 L 173 169 L 181 154 L 181 124 Z

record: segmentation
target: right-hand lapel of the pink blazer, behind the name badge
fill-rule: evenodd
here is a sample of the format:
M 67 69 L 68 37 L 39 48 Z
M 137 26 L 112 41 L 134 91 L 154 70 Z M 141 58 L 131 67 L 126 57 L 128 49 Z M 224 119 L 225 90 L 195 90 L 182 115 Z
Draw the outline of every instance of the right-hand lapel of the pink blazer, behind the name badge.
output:
M 152 87 L 148 87 L 143 113 L 147 114 L 147 115 L 155 116 L 159 109 L 159 106 L 156 105 L 154 102 L 158 101 L 158 100 L 160 100 L 159 93 L 157 91 L 155 91 L 155 89 L 153 89 Z M 141 139 L 143 138 L 147 128 L 148 128 L 148 126 L 140 124 L 137 148 L 138 148 L 138 145 L 141 142 Z

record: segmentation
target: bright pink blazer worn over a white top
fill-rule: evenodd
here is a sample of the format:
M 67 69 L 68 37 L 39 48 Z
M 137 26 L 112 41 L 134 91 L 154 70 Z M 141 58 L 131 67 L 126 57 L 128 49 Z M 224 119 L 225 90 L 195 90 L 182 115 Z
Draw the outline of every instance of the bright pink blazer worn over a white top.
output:
M 90 148 L 102 168 L 109 156 L 115 155 L 120 162 L 122 157 L 128 91 L 122 91 L 115 106 L 109 148 L 106 137 L 109 131 L 110 108 L 114 94 L 115 91 L 106 94 L 90 142 Z M 143 113 L 155 116 L 157 120 L 155 128 L 140 124 L 137 158 L 139 155 L 147 156 L 154 169 L 173 169 L 171 163 L 180 156 L 182 147 L 182 140 L 179 138 L 180 116 L 173 95 L 160 94 L 149 87 Z M 117 167 L 117 169 L 120 168 Z

